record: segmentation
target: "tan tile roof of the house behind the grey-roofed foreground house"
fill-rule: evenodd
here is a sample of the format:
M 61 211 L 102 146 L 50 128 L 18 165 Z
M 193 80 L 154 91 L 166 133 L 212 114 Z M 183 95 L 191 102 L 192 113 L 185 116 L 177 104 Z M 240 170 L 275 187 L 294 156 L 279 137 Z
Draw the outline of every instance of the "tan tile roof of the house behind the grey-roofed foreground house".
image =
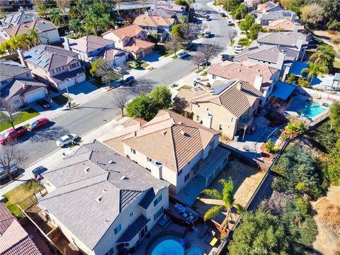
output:
M 159 111 L 138 130 L 136 128 L 138 125 L 124 128 L 106 144 L 119 149 L 115 144 L 120 140 L 173 171 L 181 170 L 208 147 L 215 135 L 220 134 L 217 130 L 205 128 L 200 123 L 165 110 Z

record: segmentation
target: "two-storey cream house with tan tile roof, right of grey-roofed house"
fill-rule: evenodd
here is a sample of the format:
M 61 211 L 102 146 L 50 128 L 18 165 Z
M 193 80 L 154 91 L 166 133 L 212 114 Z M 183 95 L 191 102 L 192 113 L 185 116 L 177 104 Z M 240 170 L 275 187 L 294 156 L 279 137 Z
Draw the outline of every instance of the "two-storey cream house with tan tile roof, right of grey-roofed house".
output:
M 219 136 L 220 131 L 162 110 L 148 123 L 132 120 L 106 144 L 171 183 L 169 191 L 176 195 L 199 171 L 208 186 L 225 167 L 229 152 L 218 146 Z M 215 153 L 220 157 L 214 166 L 205 164 Z

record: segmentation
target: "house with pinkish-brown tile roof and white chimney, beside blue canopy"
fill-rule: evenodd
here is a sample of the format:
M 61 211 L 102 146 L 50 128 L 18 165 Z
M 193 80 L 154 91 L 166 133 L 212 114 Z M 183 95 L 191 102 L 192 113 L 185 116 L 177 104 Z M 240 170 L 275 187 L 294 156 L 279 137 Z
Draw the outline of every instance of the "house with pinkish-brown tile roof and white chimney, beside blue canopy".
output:
M 282 60 L 281 60 L 282 61 Z M 212 80 L 242 80 L 261 92 L 259 103 L 263 106 L 270 96 L 273 85 L 280 77 L 280 70 L 256 62 L 229 62 L 212 64 L 208 78 Z

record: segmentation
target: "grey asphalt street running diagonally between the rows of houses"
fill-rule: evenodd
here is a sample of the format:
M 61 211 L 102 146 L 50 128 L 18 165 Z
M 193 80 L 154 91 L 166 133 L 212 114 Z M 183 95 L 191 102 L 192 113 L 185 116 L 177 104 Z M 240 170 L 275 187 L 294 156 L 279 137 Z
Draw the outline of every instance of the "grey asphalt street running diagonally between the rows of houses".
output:
M 207 1 L 196 1 L 197 6 L 203 6 L 205 3 Z M 205 7 L 205 10 L 212 18 L 212 21 L 208 24 L 209 30 L 215 36 L 203 40 L 203 43 L 211 43 L 221 52 L 228 43 L 226 35 L 229 27 L 225 18 L 222 18 L 219 13 L 208 7 Z M 193 64 L 191 58 L 186 60 L 176 59 L 154 69 L 137 80 L 145 79 L 151 82 L 152 86 L 159 84 L 169 85 L 190 74 L 195 69 L 196 65 Z M 67 133 L 84 135 L 118 115 L 119 111 L 113 108 L 112 93 L 114 93 L 114 90 L 81 104 L 81 106 L 72 109 L 72 111 L 62 113 L 51 119 L 51 125 L 42 128 L 35 134 L 31 132 L 30 135 L 23 137 L 22 145 L 28 157 L 23 166 L 26 167 L 58 149 L 55 141 L 62 135 Z

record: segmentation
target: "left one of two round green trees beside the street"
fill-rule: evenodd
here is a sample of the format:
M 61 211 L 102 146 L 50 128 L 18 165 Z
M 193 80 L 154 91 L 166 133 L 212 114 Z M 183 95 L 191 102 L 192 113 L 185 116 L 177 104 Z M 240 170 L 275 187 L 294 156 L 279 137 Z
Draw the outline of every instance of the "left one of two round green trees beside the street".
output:
M 158 111 L 153 99 L 143 94 L 128 104 L 126 112 L 129 117 L 142 118 L 149 121 L 154 118 Z

